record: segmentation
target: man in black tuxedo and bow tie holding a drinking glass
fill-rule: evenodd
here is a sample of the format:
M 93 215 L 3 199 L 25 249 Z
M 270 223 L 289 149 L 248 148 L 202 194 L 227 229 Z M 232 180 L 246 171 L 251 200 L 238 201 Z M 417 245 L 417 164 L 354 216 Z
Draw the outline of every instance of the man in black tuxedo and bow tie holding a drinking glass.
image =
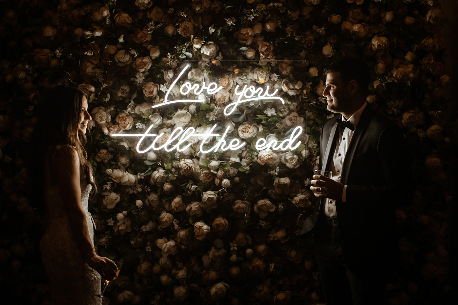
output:
M 404 135 L 366 102 L 369 70 L 343 59 L 325 69 L 327 110 L 320 169 L 310 189 L 319 208 L 305 220 L 311 232 L 326 304 L 384 304 L 396 267 L 396 208 L 410 204 L 411 168 Z M 390 270 L 391 269 L 391 270 Z

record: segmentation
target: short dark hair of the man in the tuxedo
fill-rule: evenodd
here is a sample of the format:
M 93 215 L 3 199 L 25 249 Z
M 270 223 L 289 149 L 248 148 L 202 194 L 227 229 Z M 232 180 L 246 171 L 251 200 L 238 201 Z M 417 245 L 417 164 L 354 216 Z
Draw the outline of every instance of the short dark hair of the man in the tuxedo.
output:
M 338 72 L 344 84 L 356 80 L 364 94 L 367 93 L 371 74 L 362 59 L 344 58 L 333 62 L 324 69 L 324 74 Z

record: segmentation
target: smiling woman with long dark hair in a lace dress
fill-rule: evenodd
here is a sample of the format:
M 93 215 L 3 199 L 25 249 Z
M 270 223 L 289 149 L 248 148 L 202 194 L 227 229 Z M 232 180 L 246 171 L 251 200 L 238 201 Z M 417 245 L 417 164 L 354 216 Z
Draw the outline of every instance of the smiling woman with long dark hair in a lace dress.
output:
M 49 227 L 40 242 L 51 282 L 53 304 L 101 304 L 100 275 L 116 277 L 116 264 L 100 257 L 93 246 L 93 219 L 87 211 L 89 193 L 97 191 L 93 169 L 83 148 L 91 116 L 86 95 L 73 87 L 56 86 L 44 100 L 35 136 L 41 156 L 44 201 Z

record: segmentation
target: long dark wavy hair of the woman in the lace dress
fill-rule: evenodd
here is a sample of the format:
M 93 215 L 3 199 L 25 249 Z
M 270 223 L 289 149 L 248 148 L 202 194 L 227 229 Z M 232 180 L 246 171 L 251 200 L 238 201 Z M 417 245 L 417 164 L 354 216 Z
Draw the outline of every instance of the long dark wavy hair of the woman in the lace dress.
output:
M 50 147 L 54 149 L 57 145 L 74 146 L 80 161 L 80 174 L 84 175 L 87 183 L 93 186 L 93 194 L 95 194 L 97 184 L 93 178 L 93 168 L 87 160 L 87 152 L 84 149 L 87 142 L 86 135 L 78 134 L 83 97 L 87 98 L 86 94 L 75 87 L 58 85 L 52 88 L 40 107 L 40 114 L 34 128 L 33 147 L 38 154 L 35 161 L 36 166 L 41 167 L 40 172 L 43 175 L 43 166 Z

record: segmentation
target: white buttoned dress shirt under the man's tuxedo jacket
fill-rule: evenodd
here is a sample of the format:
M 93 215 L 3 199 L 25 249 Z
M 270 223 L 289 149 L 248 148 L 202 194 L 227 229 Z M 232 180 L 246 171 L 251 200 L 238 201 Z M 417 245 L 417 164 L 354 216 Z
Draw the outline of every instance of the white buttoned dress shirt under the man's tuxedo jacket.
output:
M 361 108 L 355 112 L 348 120 L 354 128 L 360 121 L 361 113 L 363 113 L 364 108 L 367 106 L 367 102 L 361 106 Z M 345 121 L 342 116 L 342 121 Z M 350 145 L 351 138 L 353 137 L 354 131 L 349 128 L 338 128 L 339 137 L 336 139 L 336 147 L 333 154 L 333 162 L 329 166 L 329 171 L 332 171 L 333 174 L 330 177 L 331 179 L 340 182 L 340 177 L 342 176 L 342 166 L 344 165 L 345 155 L 347 153 L 348 147 Z M 346 191 L 347 186 L 344 185 L 344 192 L 342 193 L 342 202 L 346 202 Z M 336 203 L 335 200 L 326 198 L 324 201 L 324 214 L 327 217 L 337 218 Z

